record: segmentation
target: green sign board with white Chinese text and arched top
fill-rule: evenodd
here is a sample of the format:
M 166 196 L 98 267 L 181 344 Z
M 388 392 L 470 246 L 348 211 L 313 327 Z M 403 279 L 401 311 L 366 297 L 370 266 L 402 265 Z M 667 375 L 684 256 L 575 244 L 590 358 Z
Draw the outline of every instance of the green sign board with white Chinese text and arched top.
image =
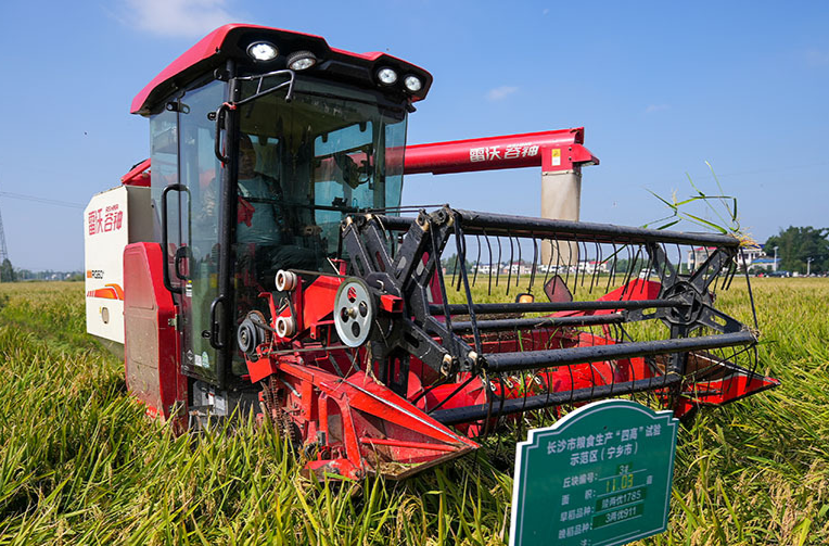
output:
M 520 442 L 510 546 L 613 546 L 667 528 L 677 420 L 594 402 Z

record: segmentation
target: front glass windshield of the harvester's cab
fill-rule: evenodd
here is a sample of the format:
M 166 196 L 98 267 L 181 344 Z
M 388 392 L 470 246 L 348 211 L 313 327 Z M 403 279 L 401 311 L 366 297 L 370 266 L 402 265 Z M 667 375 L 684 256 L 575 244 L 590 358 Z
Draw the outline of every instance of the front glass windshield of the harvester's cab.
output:
M 257 86 L 245 81 L 242 99 Z M 279 246 L 275 267 L 320 267 L 337 252 L 346 214 L 399 206 L 406 111 L 319 80 L 297 78 L 291 102 L 285 94 L 240 109 L 237 243 Z

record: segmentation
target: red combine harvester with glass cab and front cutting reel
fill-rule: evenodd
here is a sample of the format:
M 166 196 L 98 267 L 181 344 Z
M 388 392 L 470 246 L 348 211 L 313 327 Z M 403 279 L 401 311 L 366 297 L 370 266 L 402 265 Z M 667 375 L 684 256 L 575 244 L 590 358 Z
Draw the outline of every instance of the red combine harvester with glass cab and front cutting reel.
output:
M 150 415 L 254 412 L 309 472 L 403 478 L 525 411 L 624 395 L 685 416 L 778 383 L 756 330 L 714 307 L 734 237 L 403 207 L 431 84 L 228 25 L 136 97 L 151 158 L 86 211 L 87 321 Z M 412 157 L 457 169 L 441 147 Z

